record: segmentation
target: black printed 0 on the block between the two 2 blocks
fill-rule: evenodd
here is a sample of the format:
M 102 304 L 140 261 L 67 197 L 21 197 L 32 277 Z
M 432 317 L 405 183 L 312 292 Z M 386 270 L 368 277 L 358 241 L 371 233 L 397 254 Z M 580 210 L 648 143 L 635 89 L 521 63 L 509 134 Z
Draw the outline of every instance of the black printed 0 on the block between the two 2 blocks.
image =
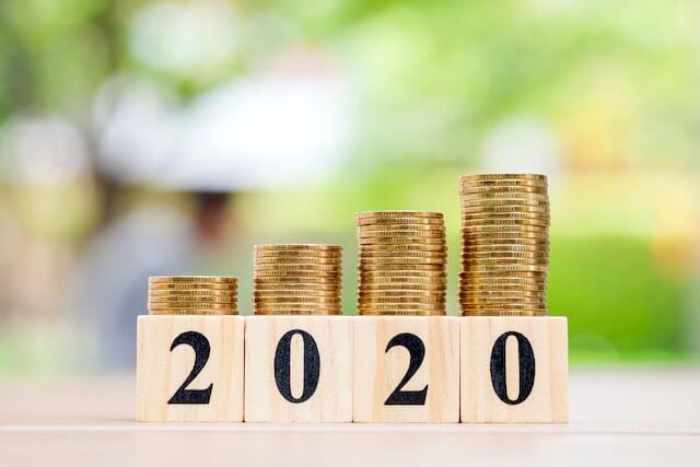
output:
M 301 336 L 304 342 L 304 388 L 300 397 L 292 395 L 290 380 L 292 338 Z M 275 383 L 282 397 L 290 402 L 301 404 L 314 395 L 320 375 L 320 355 L 313 336 L 301 329 L 292 329 L 277 343 L 275 351 Z

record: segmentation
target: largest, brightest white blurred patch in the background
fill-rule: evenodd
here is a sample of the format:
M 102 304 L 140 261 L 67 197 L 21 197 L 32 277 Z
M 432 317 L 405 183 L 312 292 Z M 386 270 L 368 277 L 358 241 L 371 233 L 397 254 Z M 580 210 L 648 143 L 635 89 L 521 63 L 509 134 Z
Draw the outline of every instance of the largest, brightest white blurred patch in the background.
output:
M 332 77 L 269 71 L 197 100 L 180 122 L 162 183 L 256 189 L 322 177 L 348 142 L 349 110 Z

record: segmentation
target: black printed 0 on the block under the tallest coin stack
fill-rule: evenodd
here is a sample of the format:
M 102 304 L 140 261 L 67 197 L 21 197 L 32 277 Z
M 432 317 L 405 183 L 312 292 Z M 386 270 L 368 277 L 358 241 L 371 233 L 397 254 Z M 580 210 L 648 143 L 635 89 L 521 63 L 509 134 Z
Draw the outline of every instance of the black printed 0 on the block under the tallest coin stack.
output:
M 517 398 L 508 397 L 508 385 L 505 382 L 505 342 L 509 337 L 517 340 L 518 370 L 520 370 L 520 392 Z M 504 332 L 495 339 L 491 351 L 491 384 L 499 399 L 510 406 L 523 402 L 533 392 L 535 385 L 535 353 L 529 340 L 520 332 Z

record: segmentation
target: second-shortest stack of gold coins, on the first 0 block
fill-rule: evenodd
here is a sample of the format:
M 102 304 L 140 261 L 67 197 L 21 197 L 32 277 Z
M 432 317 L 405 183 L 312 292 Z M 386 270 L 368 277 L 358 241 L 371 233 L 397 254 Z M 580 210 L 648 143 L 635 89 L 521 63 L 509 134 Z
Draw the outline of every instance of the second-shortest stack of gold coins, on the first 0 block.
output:
M 256 245 L 256 315 L 339 315 L 340 245 Z

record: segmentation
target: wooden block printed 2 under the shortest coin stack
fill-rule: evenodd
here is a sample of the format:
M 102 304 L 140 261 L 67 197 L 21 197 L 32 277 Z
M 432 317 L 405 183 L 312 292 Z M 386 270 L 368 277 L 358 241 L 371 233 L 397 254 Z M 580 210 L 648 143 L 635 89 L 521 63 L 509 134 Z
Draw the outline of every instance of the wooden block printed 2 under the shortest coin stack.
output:
M 243 316 L 139 316 L 137 421 L 243 421 Z

